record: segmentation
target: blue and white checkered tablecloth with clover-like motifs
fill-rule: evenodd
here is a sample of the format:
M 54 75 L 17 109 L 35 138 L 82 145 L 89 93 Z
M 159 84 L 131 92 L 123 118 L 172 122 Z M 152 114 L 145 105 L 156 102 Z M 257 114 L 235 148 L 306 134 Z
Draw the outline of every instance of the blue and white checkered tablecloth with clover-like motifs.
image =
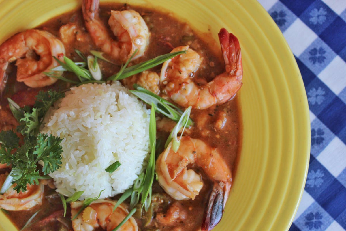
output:
M 346 0 L 258 0 L 294 54 L 308 96 L 311 153 L 292 230 L 346 230 Z

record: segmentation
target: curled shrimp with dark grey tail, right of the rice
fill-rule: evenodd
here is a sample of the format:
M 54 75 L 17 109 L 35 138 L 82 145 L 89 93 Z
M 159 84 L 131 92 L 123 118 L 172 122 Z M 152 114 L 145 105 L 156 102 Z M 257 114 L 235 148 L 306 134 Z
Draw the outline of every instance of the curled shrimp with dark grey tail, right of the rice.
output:
M 191 164 L 201 167 L 213 182 L 201 227 L 202 231 L 211 230 L 221 220 L 232 181 L 227 163 L 217 149 L 202 140 L 182 136 L 175 153 L 171 142 L 156 160 L 158 183 L 176 200 L 194 199 L 203 182 L 197 172 L 187 168 Z

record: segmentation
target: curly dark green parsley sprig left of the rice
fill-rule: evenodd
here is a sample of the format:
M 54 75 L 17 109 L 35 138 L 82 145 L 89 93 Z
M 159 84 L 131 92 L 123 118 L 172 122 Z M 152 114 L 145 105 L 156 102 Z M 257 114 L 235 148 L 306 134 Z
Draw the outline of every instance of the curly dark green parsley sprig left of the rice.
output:
M 34 108 L 19 107 L 9 99 L 10 109 L 20 125 L 17 131 L 24 135 L 23 144 L 19 146 L 19 137 L 11 130 L 0 132 L 0 162 L 12 165 L 10 174 L 0 190 L 4 193 L 11 186 L 25 192 L 27 184 L 38 184 L 38 162 L 43 163 L 42 172 L 47 175 L 60 168 L 62 139 L 53 135 L 39 133 L 39 127 L 48 109 L 64 96 L 61 92 L 40 91 L 36 96 Z

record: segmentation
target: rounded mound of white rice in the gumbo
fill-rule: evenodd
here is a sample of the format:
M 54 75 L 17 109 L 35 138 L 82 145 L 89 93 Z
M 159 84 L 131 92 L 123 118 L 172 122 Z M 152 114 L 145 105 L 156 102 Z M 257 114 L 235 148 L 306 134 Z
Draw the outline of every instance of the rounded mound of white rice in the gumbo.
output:
M 150 110 L 119 82 L 71 88 L 48 114 L 41 132 L 63 139 L 62 167 L 49 174 L 58 193 L 114 196 L 147 164 Z M 121 166 L 106 172 L 117 160 Z

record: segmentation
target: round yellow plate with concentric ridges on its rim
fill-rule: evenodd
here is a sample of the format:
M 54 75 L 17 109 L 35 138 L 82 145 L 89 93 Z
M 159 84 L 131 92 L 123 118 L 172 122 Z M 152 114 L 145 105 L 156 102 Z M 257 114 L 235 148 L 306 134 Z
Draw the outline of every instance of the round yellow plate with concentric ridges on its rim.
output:
M 287 230 L 304 189 L 310 153 L 306 92 L 280 30 L 255 0 L 125 1 L 172 11 L 193 27 L 234 33 L 242 47 L 242 152 L 215 231 Z M 0 0 L 0 42 L 80 6 L 81 0 Z M 219 49 L 219 47 L 217 47 Z M 13 226 L 0 214 L 0 230 Z

